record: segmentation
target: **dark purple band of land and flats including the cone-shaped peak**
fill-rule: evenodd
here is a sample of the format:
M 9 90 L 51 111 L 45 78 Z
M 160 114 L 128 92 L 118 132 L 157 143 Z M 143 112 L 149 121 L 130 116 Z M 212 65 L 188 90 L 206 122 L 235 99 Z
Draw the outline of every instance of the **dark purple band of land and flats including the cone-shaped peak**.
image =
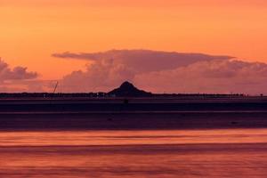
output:
M 267 128 L 263 96 L 157 95 L 130 83 L 103 95 L 46 94 L 2 93 L 0 130 Z

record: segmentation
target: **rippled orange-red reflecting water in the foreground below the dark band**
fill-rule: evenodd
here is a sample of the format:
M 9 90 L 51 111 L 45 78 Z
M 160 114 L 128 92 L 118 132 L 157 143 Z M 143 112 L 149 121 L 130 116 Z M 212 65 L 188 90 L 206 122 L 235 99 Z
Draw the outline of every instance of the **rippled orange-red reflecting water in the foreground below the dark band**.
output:
M 267 129 L 0 133 L 0 177 L 267 177 Z

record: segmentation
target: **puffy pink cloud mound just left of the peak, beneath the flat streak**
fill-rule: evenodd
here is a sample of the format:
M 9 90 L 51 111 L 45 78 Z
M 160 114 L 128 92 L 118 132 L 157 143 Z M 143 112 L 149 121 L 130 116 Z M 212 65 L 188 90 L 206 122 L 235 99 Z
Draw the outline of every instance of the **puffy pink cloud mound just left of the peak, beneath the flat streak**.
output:
M 60 88 L 64 92 L 105 92 L 125 80 L 133 80 L 137 73 L 124 64 L 97 61 L 89 65 L 86 71 L 74 71 L 63 77 Z

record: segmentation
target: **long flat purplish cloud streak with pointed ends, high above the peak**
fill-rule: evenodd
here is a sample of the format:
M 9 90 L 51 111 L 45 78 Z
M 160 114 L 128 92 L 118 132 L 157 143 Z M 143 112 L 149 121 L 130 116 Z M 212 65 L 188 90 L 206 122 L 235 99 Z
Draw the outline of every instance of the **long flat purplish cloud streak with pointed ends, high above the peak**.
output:
M 54 53 L 53 57 L 79 59 L 123 65 L 137 72 L 175 69 L 197 61 L 229 60 L 230 56 L 212 56 L 202 53 L 175 53 L 150 50 L 111 50 L 103 53 Z

